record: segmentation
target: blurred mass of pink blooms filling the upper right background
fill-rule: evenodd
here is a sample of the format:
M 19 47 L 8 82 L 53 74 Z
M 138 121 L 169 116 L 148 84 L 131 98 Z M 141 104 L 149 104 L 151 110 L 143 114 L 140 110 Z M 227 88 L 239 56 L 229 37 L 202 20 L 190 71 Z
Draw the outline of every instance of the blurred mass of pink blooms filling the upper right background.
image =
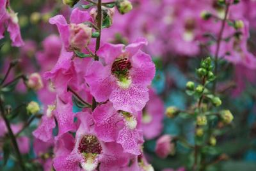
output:
M 156 57 L 169 57 L 170 54 L 193 57 L 205 50 L 212 36 L 217 39 L 224 18 L 225 8 L 218 1 L 164 0 L 164 1 L 132 1 L 134 9 L 125 16 L 115 15 L 113 26 L 104 34 L 108 41 L 135 40 L 138 35 L 144 35 L 149 46 L 145 49 Z M 234 1 L 227 0 L 234 3 Z M 253 0 L 240 1 L 230 5 L 227 19 L 230 22 L 241 20 L 243 27 L 225 24 L 223 40 L 219 56 L 234 64 L 242 64 L 247 68 L 256 68 L 256 57 L 249 50 L 248 38 L 250 28 L 255 28 L 256 13 L 250 10 L 256 7 Z M 211 13 L 209 20 L 203 18 L 205 12 Z M 115 22 L 122 20 L 122 22 Z M 211 33 L 210 39 L 205 34 Z M 233 36 L 230 41 L 226 38 Z M 112 36 L 109 36 L 112 35 Z M 119 36 L 118 36 L 119 35 Z M 202 49 L 203 47 L 203 49 Z M 216 51 L 216 43 L 211 43 L 208 49 L 212 56 Z

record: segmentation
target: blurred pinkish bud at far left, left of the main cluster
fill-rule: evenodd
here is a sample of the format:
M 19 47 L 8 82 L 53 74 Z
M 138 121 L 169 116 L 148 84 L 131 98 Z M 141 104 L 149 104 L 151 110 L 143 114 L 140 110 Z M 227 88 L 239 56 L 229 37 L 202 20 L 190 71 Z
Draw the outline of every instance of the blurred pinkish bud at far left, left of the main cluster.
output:
M 28 78 L 27 86 L 33 90 L 39 90 L 44 87 L 42 78 L 39 73 L 31 73 Z

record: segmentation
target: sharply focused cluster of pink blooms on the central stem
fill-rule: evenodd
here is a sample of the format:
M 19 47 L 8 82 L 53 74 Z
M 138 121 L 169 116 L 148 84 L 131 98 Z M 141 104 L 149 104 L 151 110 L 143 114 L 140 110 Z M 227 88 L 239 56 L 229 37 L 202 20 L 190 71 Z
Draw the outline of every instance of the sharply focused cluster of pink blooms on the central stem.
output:
M 94 61 L 75 53 L 95 50 L 92 12 L 74 8 L 69 22 L 63 15 L 49 22 L 56 24 L 60 38 L 47 37 L 44 50 L 36 53 L 44 75 L 44 87 L 38 90 L 44 115 L 33 135 L 36 155 L 53 148 L 54 158 L 39 162 L 45 170 L 52 165 L 55 170 L 152 170 L 143 154 L 143 137 L 161 133 L 164 106 L 150 87 L 156 69 L 141 51 L 147 40 L 126 46 L 102 42 L 99 61 Z M 87 105 L 81 112 L 73 110 L 77 96 Z M 93 98 L 96 108 L 90 104 Z

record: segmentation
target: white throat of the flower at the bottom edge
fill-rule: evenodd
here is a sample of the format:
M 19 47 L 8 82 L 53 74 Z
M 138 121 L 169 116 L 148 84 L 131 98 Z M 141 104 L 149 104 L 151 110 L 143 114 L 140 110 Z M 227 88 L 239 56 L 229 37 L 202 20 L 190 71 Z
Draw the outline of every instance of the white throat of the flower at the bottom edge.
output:
M 99 154 L 92 154 L 92 153 L 85 154 L 84 155 L 85 161 L 81 163 L 81 167 L 83 168 L 83 170 L 86 170 L 86 171 L 95 170 L 99 164 L 98 156 Z

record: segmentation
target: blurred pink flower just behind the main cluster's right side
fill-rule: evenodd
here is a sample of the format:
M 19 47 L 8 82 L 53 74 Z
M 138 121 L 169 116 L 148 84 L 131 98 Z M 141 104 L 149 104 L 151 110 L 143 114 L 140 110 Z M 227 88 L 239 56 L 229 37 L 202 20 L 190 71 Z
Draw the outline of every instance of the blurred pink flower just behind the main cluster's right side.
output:
M 149 100 L 143 109 L 141 128 L 146 139 L 157 137 L 163 129 L 164 104 L 152 88 L 149 89 Z

